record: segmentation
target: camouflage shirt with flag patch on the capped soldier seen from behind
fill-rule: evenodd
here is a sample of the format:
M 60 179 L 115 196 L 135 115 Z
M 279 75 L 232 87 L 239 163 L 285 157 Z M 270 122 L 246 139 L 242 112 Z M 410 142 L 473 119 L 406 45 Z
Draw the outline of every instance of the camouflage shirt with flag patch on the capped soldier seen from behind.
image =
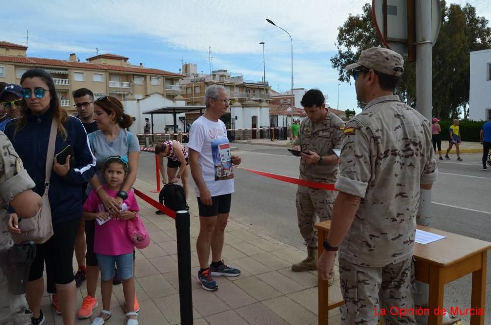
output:
M 361 197 L 339 257 L 381 267 L 413 252 L 420 184 L 436 180 L 430 122 L 397 96 L 368 103 L 344 129 L 336 188 Z

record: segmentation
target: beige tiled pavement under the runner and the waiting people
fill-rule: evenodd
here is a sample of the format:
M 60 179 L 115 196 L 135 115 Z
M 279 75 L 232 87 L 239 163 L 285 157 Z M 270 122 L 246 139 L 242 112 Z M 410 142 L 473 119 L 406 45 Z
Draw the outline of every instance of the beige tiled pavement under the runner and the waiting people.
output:
M 136 180 L 135 188 L 151 197 L 153 184 Z M 317 274 L 314 271 L 294 273 L 292 262 L 305 258 L 306 253 L 281 243 L 254 229 L 231 220 L 226 228 L 223 258 L 228 264 L 242 270 L 235 278 L 215 277 L 219 289 L 208 292 L 196 283 L 199 269 L 196 255 L 196 237 L 199 231 L 197 203 L 190 199 L 191 207 L 191 283 L 195 325 L 310 325 L 317 324 Z M 140 216 L 150 233 L 152 243 L 136 251 L 135 286 L 140 302 L 140 324 L 179 324 L 179 294 L 177 274 L 177 247 L 174 220 L 156 215 L 155 209 L 138 198 Z M 74 267 L 76 263 L 74 262 Z M 329 290 L 330 298 L 340 299 L 339 276 Z M 77 308 L 86 295 L 85 282 L 77 291 Z M 99 307 L 102 309 L 98 288 Z M 46 325 L 63 324 L 55 314 L 51 298 L 42 300 Z M 113 287 L 112 317 L 107 324 L 125 324 L 122 286 Z M 331 312 L 329 324 L 339 324 L 339 311 Z M 90 319 L 76 324 L 90 324 Z

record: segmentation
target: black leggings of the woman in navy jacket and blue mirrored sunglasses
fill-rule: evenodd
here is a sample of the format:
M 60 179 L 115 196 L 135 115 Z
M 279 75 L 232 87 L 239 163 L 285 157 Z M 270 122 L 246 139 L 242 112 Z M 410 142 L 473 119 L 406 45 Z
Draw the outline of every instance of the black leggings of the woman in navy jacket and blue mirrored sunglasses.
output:
M 29 281 L 43 276 L 46 263 L 47 291 L 55 293 L 55 283 L 73 281 L 73 248 L 79 229 L 80 217 L 53 225 L 54 235 L 44 244 L 36 244 L 37 252 L 31 265 Z

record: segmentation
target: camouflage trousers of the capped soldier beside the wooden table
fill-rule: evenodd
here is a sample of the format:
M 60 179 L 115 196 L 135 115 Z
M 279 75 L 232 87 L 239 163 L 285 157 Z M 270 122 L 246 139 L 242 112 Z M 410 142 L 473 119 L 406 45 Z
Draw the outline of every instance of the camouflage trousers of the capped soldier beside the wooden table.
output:
M 384 267 L 363 267 L 339 259 L 339 279 L 344 305 L 341 324 L 416 324 L 414 315 L 414 262 L 412 256 Z M 395 315 L 392 315 L 392 314 Z

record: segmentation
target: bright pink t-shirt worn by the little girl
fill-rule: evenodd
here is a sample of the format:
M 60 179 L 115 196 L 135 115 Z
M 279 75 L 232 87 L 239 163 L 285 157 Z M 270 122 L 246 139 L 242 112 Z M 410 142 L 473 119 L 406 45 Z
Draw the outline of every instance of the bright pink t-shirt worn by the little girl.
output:
M 106 193 L 111 197 L 116 197 L 117 190 L 109 190 L 104 187 Z M 133 191 L 128 192 L 128 198 L 123 201 L 130 211 L 140 211 Z M 92 190 L 89 197 L 83 204 L 83 210 L 88 212 L 107 212 L 102 204 L 102 200 Z M 108 222 L 99 225 L 95 222 L 94 252 L 102 255 L 123 255 L 133 253 L 133 242 L 128 236 L 128 220 L 110 219 Z

